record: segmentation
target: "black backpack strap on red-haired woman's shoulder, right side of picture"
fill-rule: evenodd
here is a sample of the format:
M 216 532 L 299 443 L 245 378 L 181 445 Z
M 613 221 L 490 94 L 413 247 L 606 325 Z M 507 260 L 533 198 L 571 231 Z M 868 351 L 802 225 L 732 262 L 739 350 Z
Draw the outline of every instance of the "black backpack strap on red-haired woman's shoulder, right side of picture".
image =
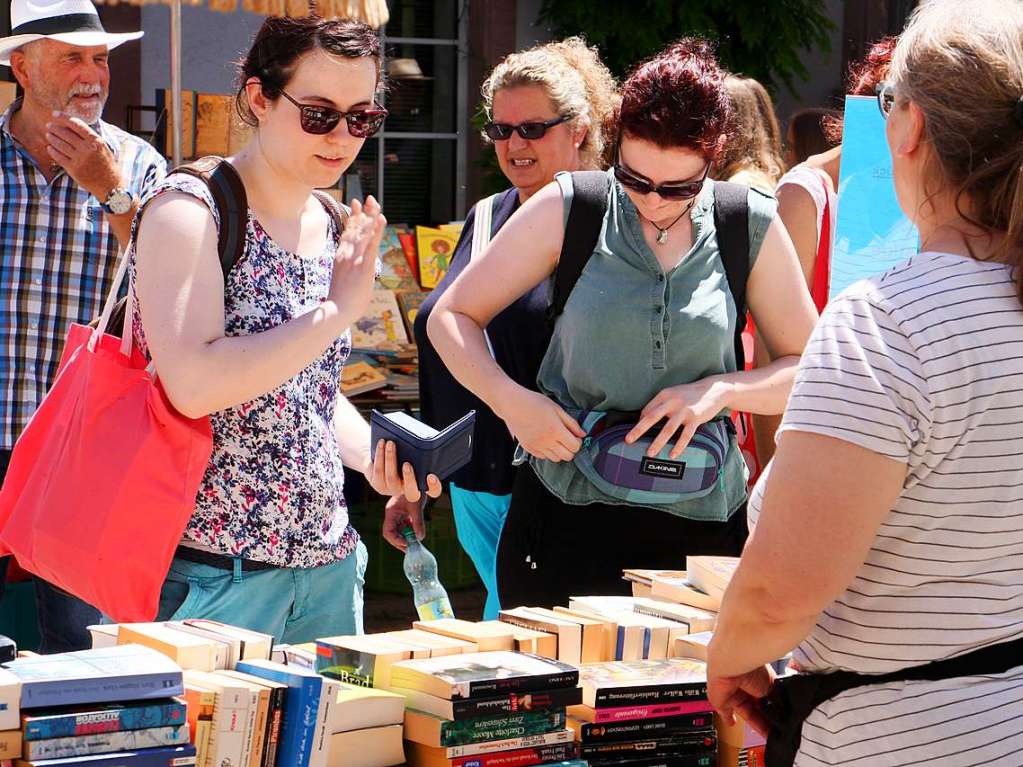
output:
M 746 368 L 743 330 L 746 328 L 746 282 L 750 276 L 750 208 L 747 187 L 714 182 L 714 229 L 717 250 L 724 263 L 728 289 L 736 302 L 736 365 Z

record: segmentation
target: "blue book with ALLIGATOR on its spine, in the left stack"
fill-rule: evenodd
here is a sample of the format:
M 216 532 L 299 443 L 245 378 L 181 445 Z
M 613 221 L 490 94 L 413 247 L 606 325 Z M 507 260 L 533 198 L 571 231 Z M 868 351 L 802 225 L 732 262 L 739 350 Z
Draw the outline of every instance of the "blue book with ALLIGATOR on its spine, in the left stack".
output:
M 47 740 L 100 732 L 175 727 L 187 721 L 186 714 L 184 701 L 173 697 L 139 704 L 36 709 L 21 716 L 21 730 L 26 740 Z

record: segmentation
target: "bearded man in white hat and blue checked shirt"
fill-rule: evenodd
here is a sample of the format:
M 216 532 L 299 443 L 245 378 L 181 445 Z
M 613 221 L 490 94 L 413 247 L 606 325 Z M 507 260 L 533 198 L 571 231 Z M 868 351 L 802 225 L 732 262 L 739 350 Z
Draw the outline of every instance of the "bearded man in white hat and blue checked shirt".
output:
M 0 117 L 0 478 L 56 375 L 73 322 L 99 314 L 138 199 L 164 159 L 101 119 L 109 53 L 141 32 L 103 30 L 89 0 L 13 0 L 0 39 L 24 96 Z M 0 559 L 0 594 L 7 559 Z M 41 652 L 86 649 L 89 604 L 36 579 Z

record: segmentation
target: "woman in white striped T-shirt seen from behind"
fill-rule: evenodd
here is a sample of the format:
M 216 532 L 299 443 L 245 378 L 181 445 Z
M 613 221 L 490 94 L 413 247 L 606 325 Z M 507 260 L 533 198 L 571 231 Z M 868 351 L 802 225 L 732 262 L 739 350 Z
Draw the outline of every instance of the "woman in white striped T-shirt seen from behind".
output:
M 833 301 L 806 347 L 710 696 L 769 723 L 772 767 L 772 748 L 799 767 L 1018 765 L 1023 5 L 922 4 L 879 103 L 921 252 Z M 801 673 L 774 681 L 793 647 Z

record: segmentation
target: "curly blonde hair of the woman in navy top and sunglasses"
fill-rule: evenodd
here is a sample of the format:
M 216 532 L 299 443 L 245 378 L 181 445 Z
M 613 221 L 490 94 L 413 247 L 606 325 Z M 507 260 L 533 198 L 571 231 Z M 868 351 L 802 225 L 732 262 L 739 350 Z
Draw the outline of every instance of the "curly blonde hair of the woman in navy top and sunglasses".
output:
M 586 45 L 582 38 L 570 37 L 506 56 L 483 83 L 487 116 L 493 114 L 494 94 L 527 85 L 543 88 L 554 110 L 567 116 L 573 126 L 586 126 L 586 138 L 579 147 L 582 167 L 602 167 L 607 124 L 619 96 L 615 78 L 596 48 Z M 485 134 L 483 139 L 490 141 Z

